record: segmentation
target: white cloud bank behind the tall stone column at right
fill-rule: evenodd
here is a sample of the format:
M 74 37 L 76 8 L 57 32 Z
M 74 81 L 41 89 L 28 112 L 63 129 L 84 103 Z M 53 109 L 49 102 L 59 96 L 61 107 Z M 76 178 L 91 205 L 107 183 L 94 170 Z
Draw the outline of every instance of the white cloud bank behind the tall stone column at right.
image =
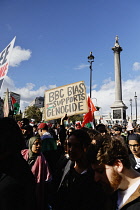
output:
M 137 94 L 137 111 L 140 116 L 140 90 L 139 90 L 140 76 L 134 80 L 122 81 L 122 100 L 128 107 L 126 114 L 130 116 L 130 98 L 132 98 L 132 115 L 135 119 L 135 92 Z M 105 82 L 105 81 L 104 81 Z M 102 114 L 109 114 L 111 112 L 110 106 L 115 101 L 115 83 L 114 81 L 106 80 L 98 91 L 92 91 L 93 103 L 101 107 Z M 95 113 L 99 114 L 99 113 Z

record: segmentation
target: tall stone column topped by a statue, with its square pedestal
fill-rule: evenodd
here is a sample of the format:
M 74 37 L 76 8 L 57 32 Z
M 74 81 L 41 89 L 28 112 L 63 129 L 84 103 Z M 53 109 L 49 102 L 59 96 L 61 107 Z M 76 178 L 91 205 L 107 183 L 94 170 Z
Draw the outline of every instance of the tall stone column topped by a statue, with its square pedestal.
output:
M 118 42 L 118 36 L 115 38 L 114 51 L 114 69 L 115 69 L 115 102 L 110 107 L 112 109 L 112 120 L 115 123 L 126 121 L 126 109 L 128 108 L 122 101 L 122 84 L 121 84 L 121 62 L 120 52 L 122 48 Z

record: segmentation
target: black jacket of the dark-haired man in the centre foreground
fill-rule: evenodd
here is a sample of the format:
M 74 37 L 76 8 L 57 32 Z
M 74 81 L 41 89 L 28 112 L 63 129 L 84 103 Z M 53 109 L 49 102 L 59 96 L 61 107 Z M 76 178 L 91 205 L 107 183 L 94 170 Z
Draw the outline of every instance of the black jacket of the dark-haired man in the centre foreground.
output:
M 64 170 L 63 170 L 64 172 Z M 59 182 L 60 184 L 60 182 Z M 94 182 L 94 173 L 89 169 L 79 174 L 70 165 L 61 186 L 55 189 L 53 206 L 55 210 L 102 210 L 104 194 L 101 186 Z

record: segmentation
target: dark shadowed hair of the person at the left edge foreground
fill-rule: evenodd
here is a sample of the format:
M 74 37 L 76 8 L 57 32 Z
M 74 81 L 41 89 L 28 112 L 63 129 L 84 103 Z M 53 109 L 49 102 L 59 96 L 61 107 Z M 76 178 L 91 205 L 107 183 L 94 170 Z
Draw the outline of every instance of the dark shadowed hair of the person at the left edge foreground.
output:
M 0 152 L 20 152 L 24 147 L 22 132 L 13 118 L 0 118 Z

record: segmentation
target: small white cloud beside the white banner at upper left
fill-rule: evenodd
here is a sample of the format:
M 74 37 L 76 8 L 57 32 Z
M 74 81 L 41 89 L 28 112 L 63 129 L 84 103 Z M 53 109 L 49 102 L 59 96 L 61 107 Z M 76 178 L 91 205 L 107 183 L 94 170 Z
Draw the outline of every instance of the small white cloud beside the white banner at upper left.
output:
M 29 49 L 22 49 L 20 46 L 16 46 L 12 50 L 9 65 L 12 67 L 19 66 L 22 61 L 29 60 L 31 57 L 31 51 Z

